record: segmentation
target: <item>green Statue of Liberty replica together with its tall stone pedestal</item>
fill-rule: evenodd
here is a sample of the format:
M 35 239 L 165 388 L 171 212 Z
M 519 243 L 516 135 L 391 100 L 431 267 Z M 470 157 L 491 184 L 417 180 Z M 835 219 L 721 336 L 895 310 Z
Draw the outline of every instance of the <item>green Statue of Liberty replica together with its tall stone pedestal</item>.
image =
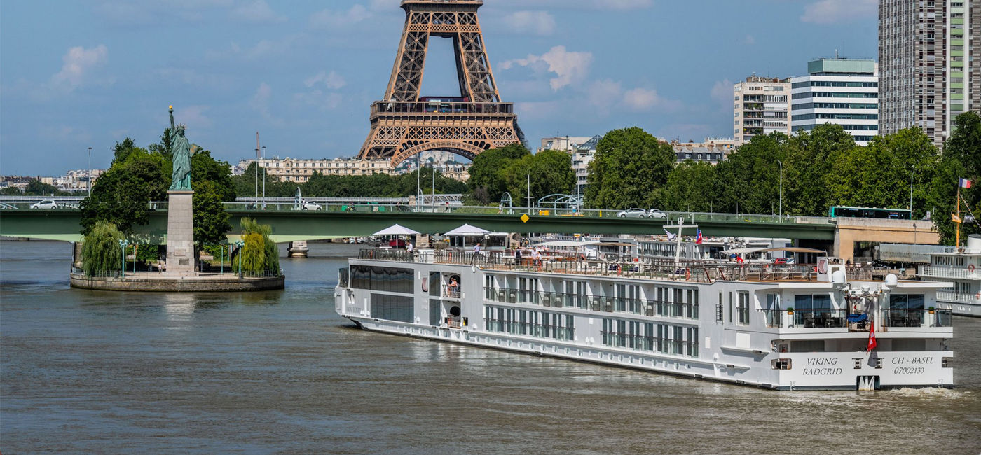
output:
M 174 106 L 171 115 L 171 155 L 174 173 L 171 187 L 167 190 L 167 274 L 194 275 L 194 214 L 193 195 L 190 189 L 190 157 L 196 145 L 184 137 L 184 126 L 174 125 Z

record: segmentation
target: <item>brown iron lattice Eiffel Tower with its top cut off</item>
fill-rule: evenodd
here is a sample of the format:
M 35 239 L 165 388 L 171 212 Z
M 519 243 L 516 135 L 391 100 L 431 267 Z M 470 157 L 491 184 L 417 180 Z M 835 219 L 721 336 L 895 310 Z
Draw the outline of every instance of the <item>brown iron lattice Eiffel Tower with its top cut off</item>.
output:
M 483 0 L 402 0 L 405 27 L 385 98 L 371 106 L 371 132 L 358 158 L 397 166 L 427 150 L 474 159 L 490 148 L 524 143 L 514 105 L 500 102 L 477 20 Z M 421 96 L 426 50 L 452 38 L 459 96 Z

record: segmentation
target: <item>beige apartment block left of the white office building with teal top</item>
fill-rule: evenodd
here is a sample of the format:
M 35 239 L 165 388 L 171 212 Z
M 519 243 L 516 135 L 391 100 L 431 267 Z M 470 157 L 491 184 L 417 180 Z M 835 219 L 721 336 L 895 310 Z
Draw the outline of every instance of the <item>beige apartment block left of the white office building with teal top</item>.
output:
M 739 143 L 757 134 L 791 132 L 789 78 L 749 76 L 733 89 L 733 135 Z

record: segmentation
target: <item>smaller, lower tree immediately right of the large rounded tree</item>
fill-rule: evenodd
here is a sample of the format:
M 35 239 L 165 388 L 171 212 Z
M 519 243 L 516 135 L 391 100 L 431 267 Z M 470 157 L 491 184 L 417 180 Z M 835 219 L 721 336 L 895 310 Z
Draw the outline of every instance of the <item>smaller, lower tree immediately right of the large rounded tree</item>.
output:
M 665 210 L 709 212 L 715 210 L 715 167 L 685 160 L 668 175 Z

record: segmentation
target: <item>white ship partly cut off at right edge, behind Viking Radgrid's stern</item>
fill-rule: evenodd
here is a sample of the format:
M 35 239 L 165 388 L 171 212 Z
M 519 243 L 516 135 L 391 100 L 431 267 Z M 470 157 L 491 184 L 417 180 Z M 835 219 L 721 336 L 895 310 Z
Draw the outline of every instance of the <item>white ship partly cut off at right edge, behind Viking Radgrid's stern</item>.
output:
M 919 268 L 919 278 L 950 286 L 937 290 L 937 307 L 981 318 L 981 235 L 968 236 L 966 247 L 949 246 L 927 256 L 930 265 Z

